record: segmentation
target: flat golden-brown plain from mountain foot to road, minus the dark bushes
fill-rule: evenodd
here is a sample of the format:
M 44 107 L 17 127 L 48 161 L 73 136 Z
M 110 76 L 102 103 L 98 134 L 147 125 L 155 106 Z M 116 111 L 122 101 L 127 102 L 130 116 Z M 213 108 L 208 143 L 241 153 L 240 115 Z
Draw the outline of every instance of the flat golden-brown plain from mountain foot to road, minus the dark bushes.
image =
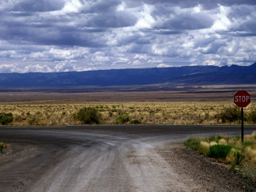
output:
M 13 114 L 10 125 L 79 124 L 74 113 L 89 106 L 102 113 L 101 124 L 115 124 L 122 113 L 142 124 L 222 124 L 216 116 L 234 106 L 237 90 L 247 90 L 252 97 L 244 113 L 256 111 L 255 85 L 172 88 L 120 88 L 116 92 L 104 88 L 102 92 L 81 93 L 15 90 L 0 93 L 0 112 Z

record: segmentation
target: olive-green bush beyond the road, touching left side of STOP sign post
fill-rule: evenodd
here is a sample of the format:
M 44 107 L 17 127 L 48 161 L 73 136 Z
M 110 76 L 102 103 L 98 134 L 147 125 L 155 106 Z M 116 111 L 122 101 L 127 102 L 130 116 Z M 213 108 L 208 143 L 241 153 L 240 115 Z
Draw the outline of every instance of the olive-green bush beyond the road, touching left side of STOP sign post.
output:
M 240 108 L 238 108 L 237 106 L 234 106 L 233 108 L 226 108 L 220 113 L 218 118 L 220 118 L 223 123 L 236 122 L 237 120 L 241 120 Z

